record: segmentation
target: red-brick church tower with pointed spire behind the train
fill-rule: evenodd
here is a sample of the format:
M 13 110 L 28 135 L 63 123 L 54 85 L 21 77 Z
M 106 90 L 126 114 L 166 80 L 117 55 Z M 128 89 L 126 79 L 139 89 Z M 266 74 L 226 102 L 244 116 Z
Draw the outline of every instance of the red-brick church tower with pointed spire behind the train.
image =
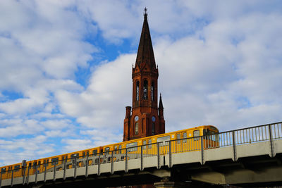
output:
M 133 106 L 132 108 L 126 106 L 123 141 L 165 132 L 161 96 L 158 108 L 158 77 L 159 70 L 154 61 L 147 8 L 145 8 L 137 58 L 132 70 Z

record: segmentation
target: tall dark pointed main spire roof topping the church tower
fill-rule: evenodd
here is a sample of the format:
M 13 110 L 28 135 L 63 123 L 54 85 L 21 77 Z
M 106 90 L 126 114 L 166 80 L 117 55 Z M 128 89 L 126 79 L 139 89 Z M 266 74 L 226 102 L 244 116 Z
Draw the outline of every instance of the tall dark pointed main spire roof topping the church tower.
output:
M 154 51 L 152 46 L 151 35 L 149 32 L 149 25 L 147 20 L 147 8 L 144 9 L 144 22 L 139 42 L 139 47 L 137 51 L 136 65 L 140 68 L 144 67 L 145 64 L 149 65 L 149 68 L 156 68 L 156 63 L 154 61 Z

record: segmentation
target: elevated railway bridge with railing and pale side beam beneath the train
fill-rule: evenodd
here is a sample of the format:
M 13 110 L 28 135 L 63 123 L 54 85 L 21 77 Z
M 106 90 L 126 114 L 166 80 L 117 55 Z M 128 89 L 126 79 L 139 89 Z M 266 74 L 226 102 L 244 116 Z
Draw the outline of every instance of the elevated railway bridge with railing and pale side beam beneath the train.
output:
M 204 144 L 207 140 L 216 142 Z M 23 170 L 19 177 L 11 170 L 9 179 L 3 179 L 1 172 L 0 188 L 153 183 L 155 187 L 193 187 L 194 184 L 262 187 L 282 184 L 281 162 L 280 122 L 77 157 L 54 163 L 54 168 L 43 173 L 38 173 L 38 165 L 18 169 Z

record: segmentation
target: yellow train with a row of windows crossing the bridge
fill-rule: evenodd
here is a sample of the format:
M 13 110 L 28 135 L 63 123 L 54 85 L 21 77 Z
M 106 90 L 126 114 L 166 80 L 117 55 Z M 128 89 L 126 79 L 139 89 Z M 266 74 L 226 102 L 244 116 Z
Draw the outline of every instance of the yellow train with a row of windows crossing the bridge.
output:
M 212 125 L 203 125 L 186 130 L 157 134 L 151 137 L 133 139 L 126 142 L 99 146 L 92 149 L 65 153 L 59 156 L 40 158 L 13 165 L 1 167 L 1 180 L 35 173 L 46 173 L 53 170 L 63 170 L 95 165 L 98 163 L 111 163 L 140 155 L 152 156 L 166 153 L 197 151 L 219 147 L 219 130 Z M 87 164 L 86 164 L 87 163 Z

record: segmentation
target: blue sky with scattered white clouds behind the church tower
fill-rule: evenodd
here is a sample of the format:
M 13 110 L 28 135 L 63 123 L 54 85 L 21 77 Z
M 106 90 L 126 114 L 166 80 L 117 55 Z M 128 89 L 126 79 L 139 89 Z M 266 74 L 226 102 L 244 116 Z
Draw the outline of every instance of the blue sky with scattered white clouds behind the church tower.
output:
M 166 132 L 282 121 L 282 2 L 0 1 L 0 165 L 121 142 L 143 22 Z

